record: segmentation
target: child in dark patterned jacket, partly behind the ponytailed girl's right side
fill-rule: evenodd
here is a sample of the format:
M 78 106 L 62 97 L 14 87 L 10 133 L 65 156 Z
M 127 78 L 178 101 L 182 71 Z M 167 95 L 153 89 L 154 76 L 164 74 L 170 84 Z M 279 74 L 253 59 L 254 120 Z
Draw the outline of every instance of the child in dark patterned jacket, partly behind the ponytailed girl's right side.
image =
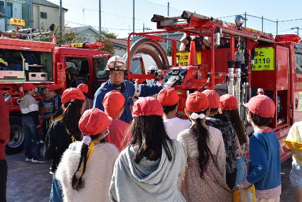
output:
M 226 154 L 226 183 L 230 189 L 235 187 L 237 163 L 236 163 L 236 132 L 231 121 L 223 114 L 218 114 L 220 97 L 214 90 L 202 91 L 209 100 L 210 115 L 206 117 L 205 123 L 211 127 L 219 129 L 222 134 L 225 154 Z

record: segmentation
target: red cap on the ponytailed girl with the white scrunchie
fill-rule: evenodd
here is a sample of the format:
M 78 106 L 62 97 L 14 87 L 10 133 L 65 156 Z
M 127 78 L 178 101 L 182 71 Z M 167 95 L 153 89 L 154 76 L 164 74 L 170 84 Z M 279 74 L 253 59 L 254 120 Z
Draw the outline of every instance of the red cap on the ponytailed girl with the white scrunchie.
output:
M 208 108 L 208 99 L 201 92 L 194 92 L 187 97 L 186 108 L 189 112 L 201 112 Z

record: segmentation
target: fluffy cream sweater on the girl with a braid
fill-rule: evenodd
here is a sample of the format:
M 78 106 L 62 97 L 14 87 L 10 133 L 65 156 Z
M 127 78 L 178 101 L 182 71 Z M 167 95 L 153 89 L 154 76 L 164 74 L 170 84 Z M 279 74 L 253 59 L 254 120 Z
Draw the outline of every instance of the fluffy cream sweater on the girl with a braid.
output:
M 62 184 L 63 200 L 64 202 L 109 202 L 109 187 L 119 151 L 113 144 L 96 144 L 82 177 L 85 182 L 84 188 L 77 192 L 71 187 L 71 179 L 79 164 L 82 143 L 76 141 L 69 145 L 55 172 L 55 178 Z M 77 172 L 77 178 L 81 176 L 80 174 Z

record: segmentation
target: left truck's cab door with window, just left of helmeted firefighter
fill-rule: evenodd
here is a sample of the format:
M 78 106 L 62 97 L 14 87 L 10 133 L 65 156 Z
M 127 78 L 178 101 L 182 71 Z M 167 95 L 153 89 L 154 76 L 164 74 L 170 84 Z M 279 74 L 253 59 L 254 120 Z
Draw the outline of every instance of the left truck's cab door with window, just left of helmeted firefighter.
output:
M 93 80 L 93 94 L 98 90 L 102 83 L 106 82 L 109 79 L 109 75 L 107 74 L 105 68 L 107 61 L 110 56 L 108 54 L 94 56 L 93 64 L 94 64 L 94 73 L 91 76 Z

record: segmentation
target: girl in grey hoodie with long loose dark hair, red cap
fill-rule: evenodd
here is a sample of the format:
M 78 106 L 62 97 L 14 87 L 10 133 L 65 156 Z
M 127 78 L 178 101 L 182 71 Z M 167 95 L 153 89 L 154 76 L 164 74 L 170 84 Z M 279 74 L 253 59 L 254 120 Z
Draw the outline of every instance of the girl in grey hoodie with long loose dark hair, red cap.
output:
M 176 177 L 185 167 L 184 152 L 165 131 L 161 104 L 140 98 L 132 115 L 131 140 L 114 165 L 111 202 L 185 202 Z

